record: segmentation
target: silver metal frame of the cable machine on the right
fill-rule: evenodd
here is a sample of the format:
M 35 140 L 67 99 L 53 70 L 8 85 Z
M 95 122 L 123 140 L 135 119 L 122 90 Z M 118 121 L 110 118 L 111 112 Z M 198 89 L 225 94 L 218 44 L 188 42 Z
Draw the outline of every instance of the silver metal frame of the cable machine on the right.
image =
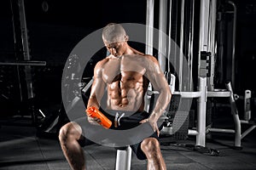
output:
M 151 4 L 151 7 L 153 8 L 147 8 L 147 14 L 149 14 L 150 20 L 147 20 L 147 24 L 150 23 L 151 26 L 153 26 L 154 21 L 154 1 L 148 0 L 148 4 Z M 170 17 L 172 13 L 172 0 L 170 0 Z M 234 31 L 233 31 L 233 37 L 235 37 L 235 26 L 236 26 L 236 5 L 229 1 L 231 5 L 234 6 Z M 160 19 L 163 20 L 166 16 L 166 8 L 162 7 L 163 3 L 160 3 Z M 207 132 L 221 132 L 221 133 L 236 133 L 236 139 L 235 139 L 235 146 L 241 147 L 241 139 L 244 138 L 247 133 L 250 133 L 256 126 L 253 125 L 252 127 L 249 127 L 244 133 L 241 134 L 241 123 L 248 123 L 246 120 L 240 120 L 237 110 L 236 110 L 236 104 L 234 100 L 234 94 L 231 88 L 231 84 L 226 84 L 227 89 L 214 89 L 213 84 L 213 77 L 214 77 L 214 61 L 215 61 L 215 54 L 216 54 L 216 38 L 215 38 L 215 26 L 216 26 L 216 8 L 217 8 L 217 0 L 201 0 L 201 14 L 200 14 L 200 35 L 199 35 L 199 59 L 198 59 L 198 91 L 196 92 L 187 92 L 187 91 L 181 91 L 176 92 L 174 91 L 172 94 L 180 94 L 182 98 L 197 98 L 198 99 L 198 112 L 197 112 L 197 127 L 196 130 L 189 129 L 189 135 L 195 135 L 196 136 L 196 145 L 205 146 L 206 145 L 206 133 Z M 163 11 L 161 11 L 163 10 Z M 180 34 L 180 55 L 183 54 L 183 13 L 184 13 L 184 1 L 181 2 L 181 34 Z M 149 17 L 147 16 L 147 19 Z M 170 19 L 169 19 L 170 20 Z M 190 20 L 194 20 L 194 3 L 193 3 L 193 17 L 190 18 Z M 171 25 L 172 20 L 170 20 L 169 25 Z M 166 22 L 160 23 L 160 31 L 163 31 L 162 26 L 165 26 Z M 194 21 L 192 21 L 192 25 L 194 26 Z M 171 29 L 171 26 L 169 26 Z M 169 36 L 171 36 L 171 31 L 169 30 Z M 153 35 L 153 32 L 152 34 Z M 194 38 L 194 31 L 191 31 L 191 38 Z M 153 38 L 151 38 L 153 39 Z M 162 44 L 162 39 L 159 39 L 160 44 L 166 47 L 166 45 Z M 170 41 L 170 40 L 169 40 Z M 235 54 L 235 41 L 236 39 L 233 38 L 233 61 L 234 61 L 234 54 Z M 152 44 L 152 42 L 146 42 L 147 44 Z M 191 48 L 190 44 L 190 48 Z M 170 53 L 170 44 L 168 48 L 168 54 Z M 146 50 L 147 52 L 147 50 Z M 201 52 L 207 52 L 212 55 L 210 58 L 211 65 L 207 65 L 207 62 L 201 61 Z M 191 54 L 191 51 L 189 52 Z M 161 57 L 161 55 L 159 56 Z M 182 71 L 183 71 L 183 60 L 182 57 L 179 58 L 179 78 L 182 78 Z M 160 58 L 160 64 L 161 68 L 165 68 L 166 65 L 162 65 L 163 59 Z M 210 66 L 211 70 L 207 70 L 207 66 Z M 203 71 L 202 71 L 203 70 Z M 234 70 L 234 64 L 232 67 L 232 70 Z M 208 71 L 208 72 L 207 72 Z M 201 73 L 205 74 L 201 74 Z M 210 75 L 210 76 L 208 76 Z M 182 81 L 180 81 L 182 82 Z M 234 82 L 234 78 L 232 79 L 232 82 Z M 183 90 L 183 86 L 180 85 L 179 89 Z M 156 92 L 149 92 L 149 94 L 154 94 Z M 207 112 L 207 98 L 208 97 L 226 97 L 230 98 L 230 105 L 232 108 L 232 116 L 235 122 L 236 129 L 221 129 L 221 128 L 212 128 L 212 127 L 206 127 L 206 112 Z M 245 107 L 247 105 L 245 104 Z M 245 116 L 250 116 L 249 111 L 245 112 Z M 172 133 L 172 127 L 170 129 L 165 129 L 169 133 Z

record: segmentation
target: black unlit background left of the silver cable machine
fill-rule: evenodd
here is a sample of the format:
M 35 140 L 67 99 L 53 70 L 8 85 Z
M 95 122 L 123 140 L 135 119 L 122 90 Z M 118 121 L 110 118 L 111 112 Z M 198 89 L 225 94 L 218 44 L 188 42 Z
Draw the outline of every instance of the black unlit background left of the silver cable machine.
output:
M 62 71 L 69 54 L 79 41 L 109 22 L 145 24 L 146 21 L 146 1 L 25 0 L 24 3 L 32 60 L 47 63 L 46 66 L 32 66 L 33 102 L 43 110 L 61 104 Z M 45 3 L 48 8 L 44 8 Z M 0 60 L 13 61 L 16 58 L 15 40 L 9 0 L 4 0 L 0 5 L 0 23 Z M 105 49 L 91 56 L 90 70 L 97 60 L 105 56 Z M 16 66 L 0 65 L 0 68 L 3 94 L 0 100 L 1 116 L 13 116 L 17 112 L 26 115 L 26 111 L 20 109 L 27 101 L 23 99 L 20 103 Z M 87 72 L 90 75 L 85 77 L 92 77 L 92 70 Z

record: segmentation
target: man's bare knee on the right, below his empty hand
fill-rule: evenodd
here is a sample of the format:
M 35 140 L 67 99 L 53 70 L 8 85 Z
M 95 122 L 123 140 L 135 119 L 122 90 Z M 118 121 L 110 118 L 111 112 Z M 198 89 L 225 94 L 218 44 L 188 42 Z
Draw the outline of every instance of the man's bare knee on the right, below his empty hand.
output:
M 160 144 L 158 139 L 148 138 L 143 140 L 141 148 L 145 154 L 152 153 L 154 151 L 157 152 L 160 150 Z

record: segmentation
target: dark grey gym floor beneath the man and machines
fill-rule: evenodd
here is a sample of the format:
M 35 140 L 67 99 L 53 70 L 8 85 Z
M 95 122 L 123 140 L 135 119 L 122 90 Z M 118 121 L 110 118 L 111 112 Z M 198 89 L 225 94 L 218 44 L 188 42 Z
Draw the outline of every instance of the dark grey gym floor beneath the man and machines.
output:
M 56 135 L 38 136 L 36 127 L 18 123 L 2 123 L 0 134 L 0 169 L 70 169 Z M 256 169 L 255 130 L 241 140 L 241 150 L 234 149 L 233 134 L 211 134 L 205 149 L 219 151 L 218 156 L 191 147 L 195 145 L 195 136 L 181 141 L 160 138 L 167 169 Z M 87 169 L 114 169 L 116 150 L 113 148 L 91 144 L 84 147 L 84 153 Z M 131 170 L 146 168 L 147 161 L 138 160 L 132 153 Z

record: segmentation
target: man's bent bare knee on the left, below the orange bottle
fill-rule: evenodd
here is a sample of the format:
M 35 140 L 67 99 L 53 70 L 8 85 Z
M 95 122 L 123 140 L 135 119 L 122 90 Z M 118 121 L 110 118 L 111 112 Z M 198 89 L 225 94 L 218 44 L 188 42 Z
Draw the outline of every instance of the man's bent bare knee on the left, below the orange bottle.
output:
M 61 142 L 64 142 L 67 139 L 76 139 L 78 140 L 81 136 L 82 128 L 79 124 L 75 122 L 68 122 L 63 125 L 59 132 L 59 139 Z

